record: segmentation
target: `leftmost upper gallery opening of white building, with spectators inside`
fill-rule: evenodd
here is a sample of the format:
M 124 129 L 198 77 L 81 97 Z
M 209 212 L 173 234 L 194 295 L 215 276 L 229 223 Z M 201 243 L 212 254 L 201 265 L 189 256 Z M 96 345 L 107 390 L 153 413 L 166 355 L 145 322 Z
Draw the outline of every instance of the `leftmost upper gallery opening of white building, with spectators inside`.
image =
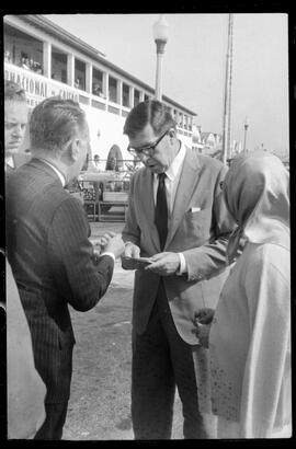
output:
M 43 74 L 43 42 L 4 24 L 4 61 Z

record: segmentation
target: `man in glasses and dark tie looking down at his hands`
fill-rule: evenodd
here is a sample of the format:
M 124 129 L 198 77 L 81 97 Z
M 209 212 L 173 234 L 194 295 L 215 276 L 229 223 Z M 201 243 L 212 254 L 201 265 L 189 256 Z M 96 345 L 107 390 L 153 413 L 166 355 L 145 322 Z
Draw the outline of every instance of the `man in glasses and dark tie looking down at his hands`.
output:
M 145 165 L 130 182 L 125 256 L 152 261 L 135 274 L 135 438 L 171 438 L 175 385 L 184 438 L 209 438 L 214 435 L 198 412 L 192 320 L 202 304 L 215 307 L 226 276 L 225 252 L 234 228 L 221 202 L 226 168 L 186 148 L 160 102 L 134 107 L 124 133 L 129 151 Z

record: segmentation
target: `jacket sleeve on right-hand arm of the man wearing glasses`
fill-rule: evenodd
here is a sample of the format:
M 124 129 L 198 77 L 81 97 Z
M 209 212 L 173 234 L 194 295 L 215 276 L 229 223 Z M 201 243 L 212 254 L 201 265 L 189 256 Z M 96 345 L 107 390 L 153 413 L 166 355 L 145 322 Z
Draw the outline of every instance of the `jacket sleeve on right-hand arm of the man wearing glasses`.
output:
M 227 211 L 223 198 L 223 181 L 227 168 L 218 172 L 213 193 L 210 241 L 202 246 L 184 251 L 189 280 L 208 279 L 218 275 L 226 267 L 226 247 L 230 233 L 236 228 L 234 219 Z

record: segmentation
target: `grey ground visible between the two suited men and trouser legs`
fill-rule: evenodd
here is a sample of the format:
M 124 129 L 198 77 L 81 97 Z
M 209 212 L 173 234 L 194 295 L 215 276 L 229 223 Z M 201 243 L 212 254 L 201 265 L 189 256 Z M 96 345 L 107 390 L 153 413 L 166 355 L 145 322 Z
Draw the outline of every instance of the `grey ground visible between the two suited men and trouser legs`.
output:
M 124 223 L 91 223 L 92 237 L 121 232 Z M 134 272 L 115 264 L 112 284 L 89 312 L 71 310 L 77 344 L 62 439 L 134 439 L 130 422 L 130 333 Z M 183 438 L 180 399 L 173 438 Z

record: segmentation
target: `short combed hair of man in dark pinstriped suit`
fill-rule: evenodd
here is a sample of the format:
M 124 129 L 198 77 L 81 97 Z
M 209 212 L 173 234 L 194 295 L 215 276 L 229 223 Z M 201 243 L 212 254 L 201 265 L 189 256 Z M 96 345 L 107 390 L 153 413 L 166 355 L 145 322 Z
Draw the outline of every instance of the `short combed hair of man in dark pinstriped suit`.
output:
M 61 149 L 78 130 L 83 131 L 86 125 L 86 114 L 77 102 L 52 96 L 33 110 L 30 119 L 31 147 Z

